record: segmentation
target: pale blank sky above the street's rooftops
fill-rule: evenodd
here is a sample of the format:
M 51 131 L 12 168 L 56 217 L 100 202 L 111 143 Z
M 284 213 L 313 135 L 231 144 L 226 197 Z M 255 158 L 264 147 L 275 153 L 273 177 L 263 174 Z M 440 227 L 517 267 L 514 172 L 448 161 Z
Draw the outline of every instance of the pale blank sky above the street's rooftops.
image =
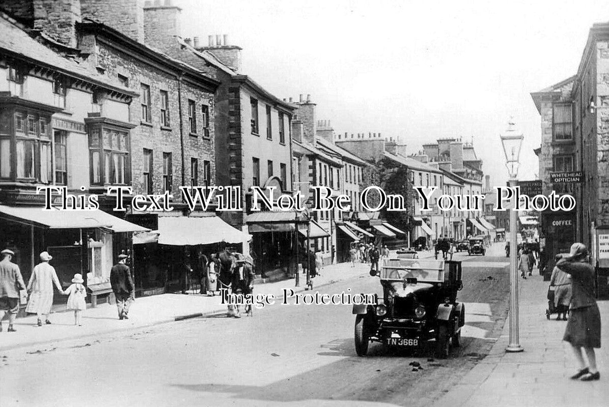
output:
M 242 74 L 280 99 L 311 94 L 337 133 L 400 137 L 409 153 L 443 137 L 474 142 L 504 185 L 499 135 L 524 134 L 519 179 L 536 179 L 541 120 L 530 92 L 576 74 L 609 2 L 173 0 L 181 34 L 228 34 Z

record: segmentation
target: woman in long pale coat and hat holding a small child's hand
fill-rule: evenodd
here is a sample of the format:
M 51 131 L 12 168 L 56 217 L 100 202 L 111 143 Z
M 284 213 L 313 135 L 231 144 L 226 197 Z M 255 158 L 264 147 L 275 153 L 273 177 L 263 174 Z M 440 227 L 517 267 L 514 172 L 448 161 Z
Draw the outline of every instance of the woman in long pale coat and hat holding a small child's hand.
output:
M 46 251 L 40 253 L 40 263 L 38 263 L 30 280 L 27 283 L 27 292 L 30 294 L 30 299 L 27 302 L 26 312 L 38 314 L 38 326 L 42 326 L 42 317 L 44 323 L 50 325 L 49 313 L 53 305 L 53 284 L 57 287 L 57 291 L 64 294 L 62 284 L 59 282 L 55 268 L 49 264 L 53 257 Z

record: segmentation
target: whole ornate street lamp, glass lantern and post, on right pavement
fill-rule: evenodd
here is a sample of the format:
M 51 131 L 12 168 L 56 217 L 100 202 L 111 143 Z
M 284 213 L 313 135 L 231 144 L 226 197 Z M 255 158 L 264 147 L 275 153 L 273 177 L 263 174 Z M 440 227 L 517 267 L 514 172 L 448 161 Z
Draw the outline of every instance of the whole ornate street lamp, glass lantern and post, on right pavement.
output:
M 505 166 L 510 175 L 510 187 L 518 184 L 518 167 L 520 165 L 520 148 L 523 144 L 523 134 L 518 134 L 513 120 L 508 122 L 507 130 L 501 136 L 501 145 L 505 153 Z M 505 352 L 522 352 L 518 338 L 518 245 L 516 240 L 516 210 L 510 209 L 510 343 Z

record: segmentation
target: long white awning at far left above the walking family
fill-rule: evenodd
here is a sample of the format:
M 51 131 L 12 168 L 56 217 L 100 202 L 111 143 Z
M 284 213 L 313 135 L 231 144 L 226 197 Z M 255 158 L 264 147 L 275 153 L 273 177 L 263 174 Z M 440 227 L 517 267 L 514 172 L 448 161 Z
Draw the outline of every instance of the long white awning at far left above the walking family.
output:
M 105 228 L 113 232 L 144 232 L 135 223 L 107 214 L 103 210 L 43 210 L 41 206 L 0 205 L 0 216 L 49 229 Z

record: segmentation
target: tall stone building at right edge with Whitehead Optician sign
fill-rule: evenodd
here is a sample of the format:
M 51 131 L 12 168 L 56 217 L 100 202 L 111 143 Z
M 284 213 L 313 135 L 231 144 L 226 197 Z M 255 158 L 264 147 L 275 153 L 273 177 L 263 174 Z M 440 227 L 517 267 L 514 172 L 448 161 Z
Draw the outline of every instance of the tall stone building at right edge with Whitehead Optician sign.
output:
M 609 226 L 609 23 L 591 27 L 576 75 L 531 96 L 541 116 L 535 153 L 543 192 L 569 193 L 577 201 L 569 212 L 541 215 L 541 242 L 550 256 L 583 242 L 593 262 L 602 263 L 595 248 Z M 551 172 L 580 173 L 552 183 Z

